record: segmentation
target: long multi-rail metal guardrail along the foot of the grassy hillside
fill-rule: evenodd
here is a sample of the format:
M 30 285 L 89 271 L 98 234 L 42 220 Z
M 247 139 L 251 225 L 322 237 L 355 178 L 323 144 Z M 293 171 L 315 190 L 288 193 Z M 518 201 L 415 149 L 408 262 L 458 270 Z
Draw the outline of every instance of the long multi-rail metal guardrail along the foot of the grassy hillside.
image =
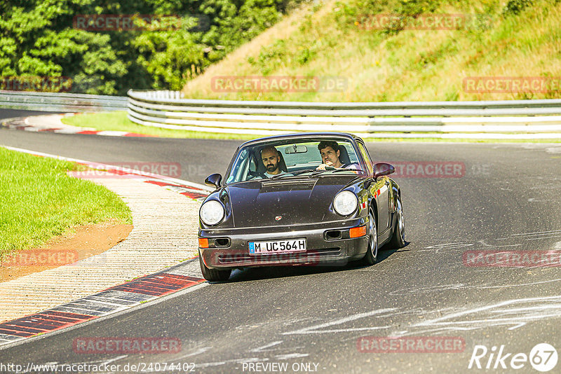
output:
M 180 92 L 129 90 L 128 118 L 140 125 L 236 134 L 355 132 L 363 137 L 545 133 L 561 137 L 561 99 L 485 102 L 252 102 L 184 99 Z M 501 136 L 498 136 L 501 135 Z M 454 135 L 454 137 L 457 137 Z

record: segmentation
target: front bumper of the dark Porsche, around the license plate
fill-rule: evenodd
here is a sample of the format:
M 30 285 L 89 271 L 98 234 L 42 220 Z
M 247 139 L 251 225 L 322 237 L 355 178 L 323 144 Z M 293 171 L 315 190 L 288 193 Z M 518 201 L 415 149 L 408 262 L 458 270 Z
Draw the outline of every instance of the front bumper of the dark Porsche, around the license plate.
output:
M 367 217 L 299 226 L 199 230 L 198 237 L 208 240 L 199 251 L 207 268 L 245 268 L 271 265 L 345 265 L 362 258 L 368 236 L 349 237 L 349 229 L 365 226 Z M 249 243 L 269 240 L 306 239 L 302 252 L 250 254 Z

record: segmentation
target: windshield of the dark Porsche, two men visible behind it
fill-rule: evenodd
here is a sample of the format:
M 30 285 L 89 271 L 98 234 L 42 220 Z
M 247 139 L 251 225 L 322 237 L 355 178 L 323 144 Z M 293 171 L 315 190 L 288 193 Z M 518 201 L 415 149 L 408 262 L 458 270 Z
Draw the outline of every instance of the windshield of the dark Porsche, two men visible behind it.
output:
M 317 170 L 320 165 L 327 165 L 326 170 Z M 308 174 L 356 174 L 361 169 L 363 167 L 349 139 L 269 141 L 241 148 L 226 183 Z

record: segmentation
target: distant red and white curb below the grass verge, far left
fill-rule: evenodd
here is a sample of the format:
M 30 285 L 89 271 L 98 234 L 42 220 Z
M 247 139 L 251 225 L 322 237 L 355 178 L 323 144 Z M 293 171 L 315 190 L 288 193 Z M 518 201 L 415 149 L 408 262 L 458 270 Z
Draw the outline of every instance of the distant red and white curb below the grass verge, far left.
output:
M 54 114 L 50 116 L 62 115 Z M 68 113 L 66 116 L 74 116 L 74 113 Z M 137 134 L 136 132 L 126 132 L 126 131 L 112 131 L 104 130 L 98 131 L 93 128 L 75 127 L 69 125 L 36 125 L 30 122 L 31 117 L 18 117 L 18 118 L 7 118 L 2 120 L 0 125 L 7 127 L 12 130 L 23 130 L 30 132 L 55 132 L 57 134 L 87 134 L 87 135 L 101 135 L 103 137 L 157 137 L 156 135 L 147 134 Z M 43 116 L 41 116 L 43 117 Z

